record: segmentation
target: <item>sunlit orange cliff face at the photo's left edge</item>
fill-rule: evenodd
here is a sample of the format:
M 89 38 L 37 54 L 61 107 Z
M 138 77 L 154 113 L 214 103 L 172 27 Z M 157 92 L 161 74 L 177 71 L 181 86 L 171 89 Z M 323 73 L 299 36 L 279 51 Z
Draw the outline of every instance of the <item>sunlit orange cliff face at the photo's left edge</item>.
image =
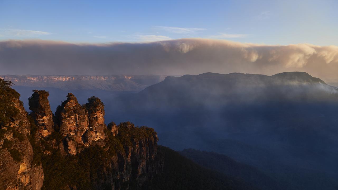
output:
M 1 82 L 1 81 L 0 81 Z M 30 123 L 19 99 L 13 99 L 15 114 L 9 123 L 0 123 L 0 189 L 40 190 L 44 181 L 41 163 L 34 163 L 27 137 Z

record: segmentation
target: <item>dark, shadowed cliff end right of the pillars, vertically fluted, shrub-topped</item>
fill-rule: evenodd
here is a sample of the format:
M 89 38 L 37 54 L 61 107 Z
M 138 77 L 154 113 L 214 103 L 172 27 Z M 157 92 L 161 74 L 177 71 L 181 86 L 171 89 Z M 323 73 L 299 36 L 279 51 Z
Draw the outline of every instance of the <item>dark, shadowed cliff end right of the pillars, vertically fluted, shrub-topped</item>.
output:
M 152 128 L 135 127 L 130 122 L 116 126 L 120 133 L 111 139 L 124 139 L 122 151 L 113 153 L 108 162 L 97 168 L 95 189 L 137 189 L 163 170 L 163 160 L 156 157 L 157 135 Z M 126 135 L 130 134 L 126 138 Z M 142 135 L 141 135 L 142 134 Z M 114 151 L 112 144 L 105 146 L 107 152 Z M 136 185 L 137 184 L 137 185 Z M 136 186 L 135 186 L 136 185 Z

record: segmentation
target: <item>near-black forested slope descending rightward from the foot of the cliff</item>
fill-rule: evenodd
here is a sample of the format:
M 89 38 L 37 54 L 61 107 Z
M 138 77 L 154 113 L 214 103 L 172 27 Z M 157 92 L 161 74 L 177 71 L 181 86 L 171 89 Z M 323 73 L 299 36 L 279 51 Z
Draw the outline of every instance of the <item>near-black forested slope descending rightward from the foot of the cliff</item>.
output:
M 155 176 L 146 189 L 255 189 L 241 181 L 203 168 L 170 148 L 159 146 L 158 156 L 164 157 L 163 173 Z

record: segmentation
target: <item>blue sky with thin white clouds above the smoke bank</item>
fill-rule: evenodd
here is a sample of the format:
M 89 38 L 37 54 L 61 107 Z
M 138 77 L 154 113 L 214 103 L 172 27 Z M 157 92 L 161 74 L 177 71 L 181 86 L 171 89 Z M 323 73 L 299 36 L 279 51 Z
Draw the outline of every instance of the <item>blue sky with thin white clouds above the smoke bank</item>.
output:
M 0 40 L 145 42 L 213 38 L 338 45 L 336 0 L 0 0 Z

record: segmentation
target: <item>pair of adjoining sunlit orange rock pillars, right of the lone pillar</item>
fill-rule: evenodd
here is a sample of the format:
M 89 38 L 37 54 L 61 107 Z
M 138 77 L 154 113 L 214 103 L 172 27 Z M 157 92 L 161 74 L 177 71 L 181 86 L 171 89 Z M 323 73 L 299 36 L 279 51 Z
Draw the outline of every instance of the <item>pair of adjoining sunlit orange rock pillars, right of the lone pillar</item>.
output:
M 93 142 L 103 146 L 106 138 L 104 124 L 104 104 L 99 98 L 91 97 L 88 103 L 80 105 L 72 93 L 57 107 L 55 112 L 59 133 L 65 137 L 65 150 L 76 155 L 82 146 Z

